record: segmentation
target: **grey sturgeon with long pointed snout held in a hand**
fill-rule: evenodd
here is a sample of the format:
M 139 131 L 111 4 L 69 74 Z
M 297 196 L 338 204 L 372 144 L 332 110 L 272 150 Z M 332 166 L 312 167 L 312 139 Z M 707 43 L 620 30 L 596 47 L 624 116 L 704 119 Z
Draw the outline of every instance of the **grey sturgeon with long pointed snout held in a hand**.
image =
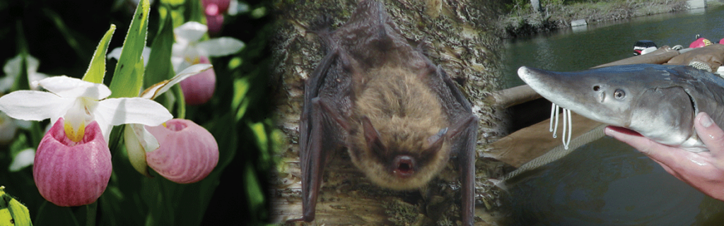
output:
M 724 78 L 694 67 L 630 64 L 579 72 L 521 67 L 518 76 L 554 105 L 687 151 L 708 151 L 694 130 L 697 113 L 707 112 L 724 125 Z

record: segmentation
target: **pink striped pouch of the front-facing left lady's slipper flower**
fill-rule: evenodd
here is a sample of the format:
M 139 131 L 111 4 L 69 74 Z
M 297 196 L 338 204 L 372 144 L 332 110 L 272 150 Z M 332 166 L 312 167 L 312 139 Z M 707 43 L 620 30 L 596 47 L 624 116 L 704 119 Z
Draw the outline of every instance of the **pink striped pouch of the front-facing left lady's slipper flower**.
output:
M 111 151 L 98 122 L 90 122 L 84 132 L 80 141 L 71 141 L 60 118 L 35 153 L 35 185 L 43 198 L 58 206 L 92 204 L 111 178 Z

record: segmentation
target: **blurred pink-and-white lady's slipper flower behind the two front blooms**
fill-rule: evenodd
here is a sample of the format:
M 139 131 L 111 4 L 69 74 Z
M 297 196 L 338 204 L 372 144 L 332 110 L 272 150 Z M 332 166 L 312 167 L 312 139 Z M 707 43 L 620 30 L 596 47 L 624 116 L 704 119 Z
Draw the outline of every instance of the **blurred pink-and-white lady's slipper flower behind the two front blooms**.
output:
M 242 41 L 236 38 L 221 37 L 211 38 L 206 41 L 200 41 L 203 35 L 206 33 L 208 28 L 199 22 L 186 22 L 180 25 L 178 28 L 174 28 L 174 36 L 176 37 L 176 43 L 172 46 L 171 63 L 174 66 L 174 71 L 179 72 L 184 70 L 193 64 L 202 63 L 202 56 L 206 58 L 205 62 L 208 62 L 211 56 L 227 56 L 234 54 L 244 47 Z M 199 91 L 186 90 L 184 89 L 184 96 L 187 104 L 203 104 L 209 99 L 198 98 L 195 95 L 198 93 L 214 92 L 214 86 L 216 85 L 216 75 L 195 75 L 200 78 L 195 80 L 198 83 L 193 88 L 198 88 Z M 211 80 L 211 78 L 213 80 Z M 205 99 L 205 100 L 204 100 Z M 203 102 L 199 102 L 199 100 Z

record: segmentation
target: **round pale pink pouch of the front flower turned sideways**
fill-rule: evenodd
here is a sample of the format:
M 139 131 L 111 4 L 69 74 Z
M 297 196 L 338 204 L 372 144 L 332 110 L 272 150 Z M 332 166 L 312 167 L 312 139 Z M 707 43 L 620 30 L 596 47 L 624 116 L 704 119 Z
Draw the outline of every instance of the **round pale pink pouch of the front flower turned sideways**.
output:
M 159 141 L 158 149 L 146 152 L 148 167 L 175 183 L 195 183 L 219 162 L 216 139 L 193 121 L 173 119 L 146 130 Z

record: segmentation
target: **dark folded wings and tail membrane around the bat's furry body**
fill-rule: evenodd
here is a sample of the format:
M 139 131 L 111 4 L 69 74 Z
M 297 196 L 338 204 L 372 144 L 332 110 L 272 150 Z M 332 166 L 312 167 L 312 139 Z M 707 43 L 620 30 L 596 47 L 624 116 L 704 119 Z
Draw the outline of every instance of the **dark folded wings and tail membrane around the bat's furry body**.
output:
M 396 65 L 421 75 L 445 109 L 462 174 L 463 224 L 472 225 L 477 117 L 455 83 L 442 68 L 413 49 L 376 1 L 362 1 L 337 30 L 316 33 L 324 41 L 327 55 L 305 84 L 299 128 L 303 217 L 292 221 L 314 219 L 327 156 L 344 146 L 355 91 L 363 88 L 366 69 Z

